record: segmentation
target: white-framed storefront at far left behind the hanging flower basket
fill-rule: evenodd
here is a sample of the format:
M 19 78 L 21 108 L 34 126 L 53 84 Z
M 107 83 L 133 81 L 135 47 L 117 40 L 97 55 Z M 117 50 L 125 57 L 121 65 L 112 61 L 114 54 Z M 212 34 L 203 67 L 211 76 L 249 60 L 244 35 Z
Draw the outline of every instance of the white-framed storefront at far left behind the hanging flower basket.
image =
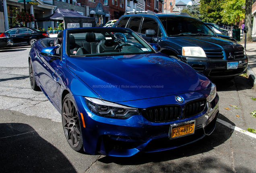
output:
M 21 1 L 21 0 L 19 0 Z M 25 11 L 29 14 L 33 14 L 35 18 L 41 18 L 45 16 L 50 16 L 53 14 L 53 10 L 56 8 L 54 5 L 50 4 L 44 4 L 40 0 L 26 0 L 30 2 L 25 2 L 25 8 L 24 8 L 24 2 L 19 2 L 18 0 L 3 0 L 4 4 L 4 22 L 5 22 L 5 30 L 8 30 L 10 28 L 13 28 L 17 24 L 17 14 L 21 11 Z M 7 16 L 7 18 L 6 18 Z M 25 26 L 25 23 L 21 23 L 23 26 Z M 27 24 L 28 27 L 35 27 L 35 22 L 29 22 Z M 46 28 L 47 30 L 48 26 L 53 26 L 53 22 L 39 22 L 38 27 L 40 28 Z

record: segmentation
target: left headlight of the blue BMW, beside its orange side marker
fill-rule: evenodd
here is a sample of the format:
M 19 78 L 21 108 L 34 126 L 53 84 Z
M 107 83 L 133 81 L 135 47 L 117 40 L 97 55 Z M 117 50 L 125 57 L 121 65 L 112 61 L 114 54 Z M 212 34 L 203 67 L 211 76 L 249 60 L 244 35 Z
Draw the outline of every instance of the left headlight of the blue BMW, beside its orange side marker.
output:
M 94 113 L 113 118 L 128 118 L 140 114 L 137 108 L 126 107 L 116 103 L 85 97 L 87 105 Z

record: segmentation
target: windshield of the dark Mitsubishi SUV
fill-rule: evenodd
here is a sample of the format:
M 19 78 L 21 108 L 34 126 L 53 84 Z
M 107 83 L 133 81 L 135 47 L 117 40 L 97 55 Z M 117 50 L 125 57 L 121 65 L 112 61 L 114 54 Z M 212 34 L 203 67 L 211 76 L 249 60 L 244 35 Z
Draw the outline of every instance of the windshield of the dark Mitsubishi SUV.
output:
M 189 17 L 161 17 L 159 18 L 167 32 L 168 36 L 179 35 L 209 35 L 215 34 L 207 28 L 202 22 Z

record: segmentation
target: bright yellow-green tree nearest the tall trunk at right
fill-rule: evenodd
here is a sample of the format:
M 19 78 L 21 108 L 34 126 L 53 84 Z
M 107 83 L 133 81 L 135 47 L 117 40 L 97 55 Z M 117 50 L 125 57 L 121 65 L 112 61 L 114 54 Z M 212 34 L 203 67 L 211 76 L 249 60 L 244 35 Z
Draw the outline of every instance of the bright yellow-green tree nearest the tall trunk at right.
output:
M 226 0 L 221 12 L 222 21 L 231 24 L 244 19 L 245 10 L 242 9 L 244 5 L 245 0 Z

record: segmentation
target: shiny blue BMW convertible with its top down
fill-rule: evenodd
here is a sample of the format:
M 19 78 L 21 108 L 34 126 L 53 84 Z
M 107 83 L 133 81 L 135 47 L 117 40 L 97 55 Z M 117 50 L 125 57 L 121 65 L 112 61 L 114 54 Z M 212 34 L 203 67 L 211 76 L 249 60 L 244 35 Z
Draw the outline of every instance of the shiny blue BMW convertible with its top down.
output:
M 70 28 L 29 53 L 33 90 L 60 112 L 75 151 L 130 157 L 210 135 L 215 84 L 128 28 Z

